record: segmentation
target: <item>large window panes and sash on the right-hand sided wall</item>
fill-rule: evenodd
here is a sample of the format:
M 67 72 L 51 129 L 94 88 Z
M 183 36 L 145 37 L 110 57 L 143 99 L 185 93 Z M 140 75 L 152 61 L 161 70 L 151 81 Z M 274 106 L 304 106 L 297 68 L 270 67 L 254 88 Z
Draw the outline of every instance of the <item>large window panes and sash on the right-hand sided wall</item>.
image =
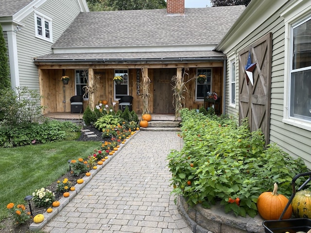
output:
M 290 117 L 311 121 L 311 17 L 292 26 Z

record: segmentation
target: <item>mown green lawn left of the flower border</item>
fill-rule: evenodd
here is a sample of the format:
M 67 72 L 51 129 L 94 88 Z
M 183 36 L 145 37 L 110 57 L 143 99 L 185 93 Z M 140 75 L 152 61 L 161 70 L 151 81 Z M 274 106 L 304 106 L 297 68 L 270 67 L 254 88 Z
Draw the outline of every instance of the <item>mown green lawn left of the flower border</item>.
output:
M 0 149 L 0 221 L 7 217 L 6 205 L 24 203 L 35 189 L 46 187 L 68 169 L 68 160 L 86 158 L 100 142 L 62 141 L 42 145 Z

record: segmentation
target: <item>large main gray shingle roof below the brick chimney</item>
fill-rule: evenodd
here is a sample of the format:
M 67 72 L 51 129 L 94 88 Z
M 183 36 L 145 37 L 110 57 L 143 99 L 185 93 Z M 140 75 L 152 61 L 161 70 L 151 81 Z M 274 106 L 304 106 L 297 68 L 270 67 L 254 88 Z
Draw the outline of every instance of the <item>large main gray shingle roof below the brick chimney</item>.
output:
M 167 15 L 166 9 L 83 12 L 52 47 L 216 45 L 244 9 L 186 8 L 185 16 Z

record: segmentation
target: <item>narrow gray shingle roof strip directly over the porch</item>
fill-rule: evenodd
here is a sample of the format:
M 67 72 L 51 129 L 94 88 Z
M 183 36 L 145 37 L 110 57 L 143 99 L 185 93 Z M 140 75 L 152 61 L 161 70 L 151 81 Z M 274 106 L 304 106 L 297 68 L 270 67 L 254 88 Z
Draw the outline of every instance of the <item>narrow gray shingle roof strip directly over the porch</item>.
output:
M 225 54 L 217 51 L 182 51 L 182 52 L 105 52 L 105 53 L 56 53 L 40 56 L 35 59 L 36 62 L 51 60 L 108 60 L 112 59 L 175 59 L 175 58 L 199 58 L 199 57 L 225 57 Z

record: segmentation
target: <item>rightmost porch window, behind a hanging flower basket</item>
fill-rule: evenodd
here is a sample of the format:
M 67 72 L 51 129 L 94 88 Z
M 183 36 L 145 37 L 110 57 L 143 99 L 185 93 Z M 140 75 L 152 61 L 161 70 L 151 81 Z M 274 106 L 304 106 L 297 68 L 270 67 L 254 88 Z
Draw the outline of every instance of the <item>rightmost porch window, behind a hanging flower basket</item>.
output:
M 198 68 L 197 75 L 204 74 L 206 75 L 206 81 L 201 84 L 195 80 L 195 100 L 204 100 L 204 97 L 207 97 L 207 92 L 211 92 L 211 79 L 212 79 L 212 70 L 211 68 Z

